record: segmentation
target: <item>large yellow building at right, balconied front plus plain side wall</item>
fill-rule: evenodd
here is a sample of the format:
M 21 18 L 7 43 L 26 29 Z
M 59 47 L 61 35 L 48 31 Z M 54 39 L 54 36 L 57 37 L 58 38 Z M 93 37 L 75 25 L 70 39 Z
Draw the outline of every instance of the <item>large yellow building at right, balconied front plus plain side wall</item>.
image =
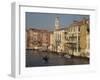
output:
M 89 56 L 89 20 L 83 18 L 81 21 L 74 21 L 66 28 L 67 53 L 74 56 Z

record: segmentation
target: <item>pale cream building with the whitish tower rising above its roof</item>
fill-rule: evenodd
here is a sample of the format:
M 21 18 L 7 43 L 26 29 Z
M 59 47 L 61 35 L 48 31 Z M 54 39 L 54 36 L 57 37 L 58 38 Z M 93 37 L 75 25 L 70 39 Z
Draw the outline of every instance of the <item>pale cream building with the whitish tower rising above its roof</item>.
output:
M 53 32 L 53 46 L 54 51 L 56 52 L 63 52 L 64 48 L 64 28 L 61 28 L 60 19 L 57 16 L 55 19 L 55 28 Z

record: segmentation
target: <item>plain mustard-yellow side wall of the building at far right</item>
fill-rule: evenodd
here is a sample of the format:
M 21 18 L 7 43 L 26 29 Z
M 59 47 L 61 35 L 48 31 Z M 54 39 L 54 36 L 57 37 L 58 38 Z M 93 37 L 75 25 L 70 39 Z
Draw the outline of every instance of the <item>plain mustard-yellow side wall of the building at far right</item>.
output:
M 89 40 L 90 40 L 90 27 L 89 20 L 83 19 L 81 21 L 80 27 L 80 48 L 81 48 L 81 56 L 88 57 L 89 56 Z

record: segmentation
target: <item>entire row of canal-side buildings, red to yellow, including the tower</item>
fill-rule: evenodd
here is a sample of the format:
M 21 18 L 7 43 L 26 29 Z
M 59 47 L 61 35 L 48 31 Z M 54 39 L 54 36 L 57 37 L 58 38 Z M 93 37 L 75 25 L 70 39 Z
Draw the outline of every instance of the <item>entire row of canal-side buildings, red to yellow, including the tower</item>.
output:
M 27 29 L 27 49 L 42 49 L 60 54 L 89 57 L 89 20 L 83 18 L 62 28 L 60 18 L 55 18 L 54 31 Z

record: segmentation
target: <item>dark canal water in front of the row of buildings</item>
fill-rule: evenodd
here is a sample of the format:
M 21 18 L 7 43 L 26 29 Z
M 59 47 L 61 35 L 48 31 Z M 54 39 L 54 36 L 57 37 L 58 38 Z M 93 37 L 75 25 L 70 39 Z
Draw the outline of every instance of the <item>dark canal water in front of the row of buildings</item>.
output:
M 60 66 L 60 65 L 85 65 L 89 64 L 88 58 L 71 57 L 35 50 L 26 50 L 26 67 Z

